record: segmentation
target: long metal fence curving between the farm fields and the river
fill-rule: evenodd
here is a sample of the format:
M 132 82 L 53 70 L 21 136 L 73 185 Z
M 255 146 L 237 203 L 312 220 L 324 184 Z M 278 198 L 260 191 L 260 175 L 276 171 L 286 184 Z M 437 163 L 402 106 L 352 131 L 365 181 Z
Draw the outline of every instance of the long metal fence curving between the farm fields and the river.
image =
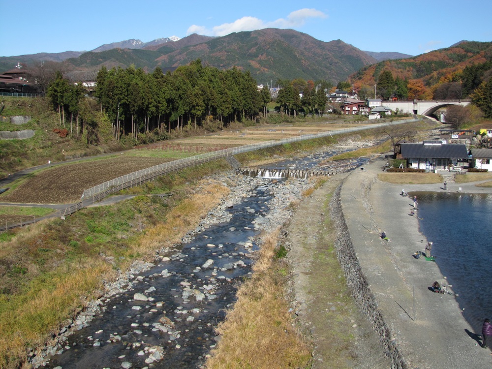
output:
M 408 119 L 408 120 L 403 120 L 403 121 L 394 121 L 394 122 L 386 122 L 386 123 L 376 123 L 376 124 L 368 124 L 368 125 L 363 125 L 363 126 L 358 126 L 358 127 L 352 127 L 352 128 L 344 128 L 344 129 L 336 129 L 333 131 L 326 131 L 326 132 L 321 132 L 321 133 L 312 133 L 312 134 L 306 134 L 302 136 L 297 136 L 297 137 L 290 137 L 278 141 L 268 141 L 264 142 L 261 144 L 251 144 L 251 145 L 245 145 L 245 146 L 240 146 L 236 148 L 229 148 L 229 149 L 224 149 L 224 150 L 219 150 L 211 153 L 206 153 L 206 154 L 199 154 L 195 156 L 190 156 L 184 159 L 179 159 L 179 160 L 174 160 L 170 161 L 164 164 L 159 164 L 155 165 L 153 167 L 147 168 L 147 169 L 142 169 L 137 172 L 133 172 L 130 174 L 126 174 L 124 176 L 115 178 L 111 181 L 104 182 L 102 184 L 98 184 L 94 187 L 88 188 L 84 191 L 81 197 L 81 201 L 79 201 L 76 204 L 67 206 L 64 209 L 61 209 L 56 212 L 56 214 L 53 215 L 47 215 L 38 219 L 33 219 L 29 220 L 23 223 L 15 223 L 15 224 L 5 224 L 5 226 L 0 226 L 0 231 L 18 227 L 18 226 L 23 226 L 27 224 L 34 223 L 38 220 L 47 218 L 47 217 L 55 217 L 55 216 L 60 216 L 64 217 L 67 215 L 71 215 L 75 213 L 76 211 L 91 205 L 97 201 L 102 200 L 106 196 L 108 196 L 111 193 L 118 192 L 122 189 L 129 188 L 135 185 L 143 184 L 145 182 L 151 181 L 156 177 L 162 176 L 166 173 L 170 173 L 173 171 L 177 171 L 180 169 L 184 169 L 186 167 L 202 164 L 208 161 L 212 161 L 215 159 L 220 159 L 220 158 L 225 158 L 228 156 L 236 155 L 236 154 L 242 154 L 242 153 L 247 153 L 250 151 L 255 151 L 255 150 L 260 150 L 260 149 L 266 149 L 278 145 L 283 145 L 287 143 L 292 143 L 292 142 L 299 142 L 299 141 L 304 141 L 304 140 L 311 140 L 311 139 L 316 139 L 316 138 L 323 138 L 327 136 L 335 136 L 335 135 L 340 135 L 340 134 L 345 134 L 345 133 L 353 133 L 353 132 L 358 132 L 366 129 L 374 129 L 374 128 L 380 128 L 380 127 L 385 127 L 385 126 L 391 126 L 391 125 L 397 125 L 397 124 L 402 124 L 402 123 L 410 123 L 410 122 L 417 122 L 418 119 Z

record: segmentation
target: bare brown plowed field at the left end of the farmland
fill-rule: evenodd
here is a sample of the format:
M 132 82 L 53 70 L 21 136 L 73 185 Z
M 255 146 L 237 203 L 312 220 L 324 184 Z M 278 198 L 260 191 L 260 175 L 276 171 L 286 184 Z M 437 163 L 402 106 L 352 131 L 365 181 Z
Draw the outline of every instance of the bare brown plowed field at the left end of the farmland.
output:
M 170 160 L 172 159 L 122 155 L 58 165 L 33 175 L 11 193 L 0 195 L 0 201 L 33 204 L 77 202 L 87 188 Z

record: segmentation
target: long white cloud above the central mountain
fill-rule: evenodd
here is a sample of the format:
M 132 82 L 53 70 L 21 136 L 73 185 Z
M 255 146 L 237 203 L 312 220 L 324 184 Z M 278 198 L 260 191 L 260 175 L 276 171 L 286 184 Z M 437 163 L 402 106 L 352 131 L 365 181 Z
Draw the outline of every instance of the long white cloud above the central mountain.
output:
M 327 15 L 316 9 L 300 9 L 293 11 L 287 16 L 287 19 L 277 19 L 272 22 L 264 22 L 256 17 L 243 17 L 233 23 L 224 23 L 215 26 L 209 30 L 202 26 L 192 25 L 186 31 L 186 34 L 199 33 L 209 36 L 225 36 L 232 32 L 254 31 L 264 28 L 297 28 L 302 27 L 309 18 L 326 18 Z

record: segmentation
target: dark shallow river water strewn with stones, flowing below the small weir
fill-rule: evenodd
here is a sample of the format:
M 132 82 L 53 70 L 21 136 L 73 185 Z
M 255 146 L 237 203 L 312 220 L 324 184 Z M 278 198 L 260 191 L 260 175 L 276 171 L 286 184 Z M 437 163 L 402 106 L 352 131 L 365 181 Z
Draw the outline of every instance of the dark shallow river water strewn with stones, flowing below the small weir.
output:
M 229 222 L 195 234 L 105 302 L 70 336 L 47 368 L 200 368 L 215 346 L 214 328 L 235 302 L 258 249 L 252 223 L 269 211 L 271 186 L 228 209 Z M 148 301 L 136 298 L 142 294 Z

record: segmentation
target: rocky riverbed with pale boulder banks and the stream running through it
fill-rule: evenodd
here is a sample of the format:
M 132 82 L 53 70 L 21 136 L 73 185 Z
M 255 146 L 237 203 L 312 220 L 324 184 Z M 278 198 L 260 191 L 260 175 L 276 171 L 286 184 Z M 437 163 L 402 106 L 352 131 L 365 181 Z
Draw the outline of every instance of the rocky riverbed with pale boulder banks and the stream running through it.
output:
M 342 148 L 330 151 L 336 154 Z M 314 155 L 298 163 L 318 161 Z M 358 160 L 336 164 L 339 171 Z M 250 274 L 260 231 L 291 216 L 309 180 L 215 176 L 230 195 L 179 245 L 136 261 L 105 286 L 104 295 L 65 324 L 44 347 L 32 350 L 34 368 L 201 368 L 220 337 L 214 327 L 234 304 L 236 284 Z M 232 184 L 232 185 L 231 185 Z

